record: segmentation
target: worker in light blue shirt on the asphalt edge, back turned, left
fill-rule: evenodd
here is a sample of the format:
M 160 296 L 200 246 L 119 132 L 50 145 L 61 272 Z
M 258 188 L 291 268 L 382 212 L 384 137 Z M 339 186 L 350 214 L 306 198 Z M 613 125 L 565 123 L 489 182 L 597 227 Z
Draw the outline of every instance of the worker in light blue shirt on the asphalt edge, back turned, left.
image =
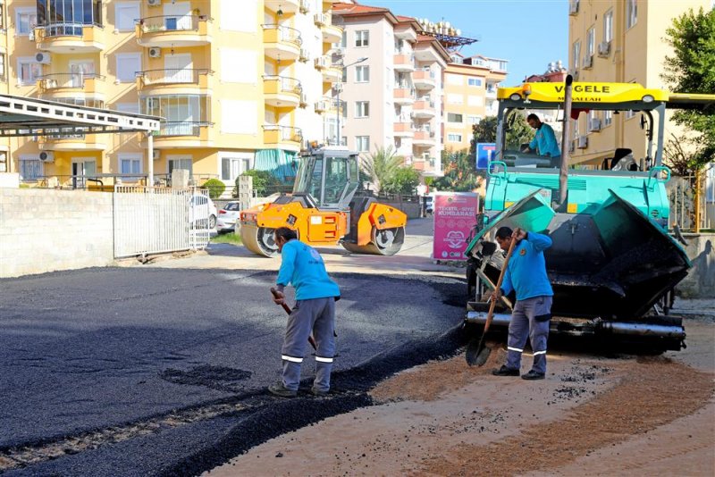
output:
M 311 332 L 315 339 L 315 381 L 311 392 L 324 396 L 330 389 L 332 357 L 335 354 L 335 302 L 341 290 L 328 277 L 323 257 L 313 247 L 299 241 L 295 230 L 287 227 L 273 233 L 281 253 L 281 269 L 273 301 L 282 305 L 283 289 L 296 289 L 296 305 L 290 312 L 282 346 L 282 380 L 268 390 L 281 397 L 295 397 L 300 382 L 300 365 L 306 354 Z

